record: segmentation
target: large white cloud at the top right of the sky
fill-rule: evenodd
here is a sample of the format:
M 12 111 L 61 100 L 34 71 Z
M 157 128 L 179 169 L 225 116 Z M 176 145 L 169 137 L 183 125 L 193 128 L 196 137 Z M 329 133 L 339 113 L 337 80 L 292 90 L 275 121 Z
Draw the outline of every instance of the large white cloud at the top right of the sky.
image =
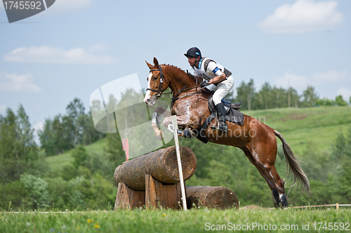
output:
M 266 32 L 302 33 L 326 30 L 340 25 L 343 14 L 336 11 L 337 1 L 298 0 L 275 9 L 258 26 Z

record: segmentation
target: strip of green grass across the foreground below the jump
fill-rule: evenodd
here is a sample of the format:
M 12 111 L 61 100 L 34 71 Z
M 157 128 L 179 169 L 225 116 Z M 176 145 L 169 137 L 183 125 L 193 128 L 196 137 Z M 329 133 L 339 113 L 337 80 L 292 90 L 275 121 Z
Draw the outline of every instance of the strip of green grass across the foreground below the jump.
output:
M 329 222 L 332 222 L 331 226 L 328 226 Z M 341 222 L 343 225 L 340 225 Z M 225 232 L 232 231 L 234 224 L 235 227 L 249 226 L 251 230 L 247 232 L 267 232 L 265 229 L 269 228 L 268 232 L 331 232 L 329 229 L 348 232 L 345 229 L 351 229 L 350 222 L 351 210 L 345 208 L 338 211 L 266 208 L 220 211 L 205 208 L 187 212 L 144 209 L 75 213 L 5 212 L 0 213 L 0 232 L 208 232 L 211 228 Z M 260 229 L 258 226 L 261 226 Z M 303 226 L 309 226 L 309 230 L 303 230 Z M 289 230 L 281 230 L 281 227 Z

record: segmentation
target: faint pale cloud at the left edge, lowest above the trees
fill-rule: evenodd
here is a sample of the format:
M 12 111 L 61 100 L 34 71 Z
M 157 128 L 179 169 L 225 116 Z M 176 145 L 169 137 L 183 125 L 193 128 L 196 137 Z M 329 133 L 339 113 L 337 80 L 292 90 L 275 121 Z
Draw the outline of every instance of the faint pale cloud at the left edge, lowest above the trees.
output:
M 0 74 L 0 92 L 41 92 L 32 84 L 32 74 Z

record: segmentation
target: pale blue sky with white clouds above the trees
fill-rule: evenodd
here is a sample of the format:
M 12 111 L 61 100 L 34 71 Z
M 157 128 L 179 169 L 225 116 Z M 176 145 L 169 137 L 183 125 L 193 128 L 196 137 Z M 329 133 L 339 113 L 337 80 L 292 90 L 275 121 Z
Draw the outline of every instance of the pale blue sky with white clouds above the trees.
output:
M 74 98 L 88 112 L 91 94 L 116 79 L 137 74 L 147 88 L 145 60 L 190 71 L 193 46 L 233 73 L 234 90 L 253 79 L 256 91 L 314 86 L 348 102 L 350 41 L 350 0 L 56 0 L 13 23 L 0 4 L 0 114 L 22 105 L 41 129 Z

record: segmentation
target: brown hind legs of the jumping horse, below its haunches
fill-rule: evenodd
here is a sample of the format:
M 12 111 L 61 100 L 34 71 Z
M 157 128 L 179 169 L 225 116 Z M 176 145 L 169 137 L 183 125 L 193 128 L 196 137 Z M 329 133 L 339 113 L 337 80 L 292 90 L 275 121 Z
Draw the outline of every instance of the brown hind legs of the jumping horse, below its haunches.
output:
M 251 152 L 249 149 L 244 149 L 244 152 L 251 163 L 256 166 L 260 175 L 265 178 L 267 185 L 272 190 L 274 206 L 279 207 L 280 204 L 282 204 L 282 207 L 288 206 L 284 191 L 284 180 L 279 176 L 274 166 L 275 156 L 267 159 L 267 157 L 263 158 L 259 156 L 255 150 Z M 271 153 L 274 153 L 274 151 Z

